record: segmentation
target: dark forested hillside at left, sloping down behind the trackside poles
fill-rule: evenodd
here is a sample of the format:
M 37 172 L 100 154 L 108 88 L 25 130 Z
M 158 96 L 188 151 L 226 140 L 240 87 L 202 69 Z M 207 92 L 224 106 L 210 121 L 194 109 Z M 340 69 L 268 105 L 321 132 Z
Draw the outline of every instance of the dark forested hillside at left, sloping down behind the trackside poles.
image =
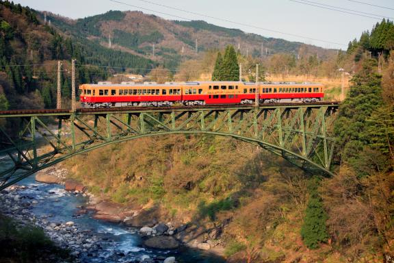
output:
M 137 68 L 135 73 L 147 73 L 154 66 L 136 55 L 88 40 L 78 42 L 42 23 L 36 11 L 0 1 L 0 109 L 55 107 L 57 60 L 64 65 L 62 95 L 70 99 L 72 58 L 77 60 L 77 86 L 107 79 L 111 72 L 127 66 Z M 115 69 L 98 67 L 103 65 Z

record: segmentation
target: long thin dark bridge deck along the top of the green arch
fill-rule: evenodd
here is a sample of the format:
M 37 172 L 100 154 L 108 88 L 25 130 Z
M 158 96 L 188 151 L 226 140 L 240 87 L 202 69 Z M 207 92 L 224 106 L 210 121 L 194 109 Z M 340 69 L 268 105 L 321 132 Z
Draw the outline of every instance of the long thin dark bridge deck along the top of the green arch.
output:
M 265 108 L 319 108 L 324 105 L 336 106 L 340 105 L 339 101 L 322 101 L 319 103 L 270 103 L 259 105 L 260 109 Z M 111 113 L 127 113 L 127 112 L 168 112 L 170 110 L 182 111 L 182 110 L 251 110 L 254 105 L 201 105 L 201 106 L 173 106 L 173 107 L 127 107 L 127 108 L 99 108 L 99 109 L 77 109 L 77 114 L 94 114 L 107 112 Z M 22 116 L 67 116 L 72 114 L 69 109 L 42 109 L 42 110 L 2 110 L 0 111 L 0 118 L 5 117 L 22 117 Z

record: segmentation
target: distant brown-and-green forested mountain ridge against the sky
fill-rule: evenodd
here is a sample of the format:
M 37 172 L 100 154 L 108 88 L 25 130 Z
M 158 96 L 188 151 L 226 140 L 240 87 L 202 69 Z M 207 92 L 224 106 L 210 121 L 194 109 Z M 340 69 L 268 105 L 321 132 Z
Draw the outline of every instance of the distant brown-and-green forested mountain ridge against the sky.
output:
M 41 13 L 40 18 L 44 19 L 44 15 Z M 111 38 L 111 49 L 150 58 L 166 68 L 176 68 L 183 60 L 198 58 L 204 51 L 224 49 L 227 45 L 239 45 L 239 52 L 254 58 L 274 53 L 297 55 L 300 47 L 304 45 L 300 42 L 246 34 L 239 29 L 219 27 L 205 21 L 169 21 L 135 11 L 109 11 L 77 20 L 47 13 L 47 19 L 51 20 L 52 25 L 75 38 L 93 40 L 104 47 L 109 47 Z M 306 47 L 321 59 L 334 53 L 332 50 L 312 45 Z

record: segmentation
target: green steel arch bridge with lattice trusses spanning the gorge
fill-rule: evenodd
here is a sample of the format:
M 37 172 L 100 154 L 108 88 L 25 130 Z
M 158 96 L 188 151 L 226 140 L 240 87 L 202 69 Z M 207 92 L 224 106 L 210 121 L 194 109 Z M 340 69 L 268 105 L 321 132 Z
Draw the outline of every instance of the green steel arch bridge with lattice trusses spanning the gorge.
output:
M 81 153 L 146 136 L 213 134 L 332 175 L 338 102 L 0 112 L 0 190 Z M 8 125 L 4 125 L 3 119 Z M 10 124 L 12 127 L 10 127 Z

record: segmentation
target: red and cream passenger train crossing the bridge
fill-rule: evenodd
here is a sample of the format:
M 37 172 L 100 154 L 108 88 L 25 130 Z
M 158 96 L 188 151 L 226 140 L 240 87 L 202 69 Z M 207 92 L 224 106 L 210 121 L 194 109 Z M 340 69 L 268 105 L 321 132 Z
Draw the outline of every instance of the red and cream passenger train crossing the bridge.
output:
M 168 107 L 172 105 L 312 103 L 324 86 L 296 82 L 99 82 L 79 86 L 82 108 Z

